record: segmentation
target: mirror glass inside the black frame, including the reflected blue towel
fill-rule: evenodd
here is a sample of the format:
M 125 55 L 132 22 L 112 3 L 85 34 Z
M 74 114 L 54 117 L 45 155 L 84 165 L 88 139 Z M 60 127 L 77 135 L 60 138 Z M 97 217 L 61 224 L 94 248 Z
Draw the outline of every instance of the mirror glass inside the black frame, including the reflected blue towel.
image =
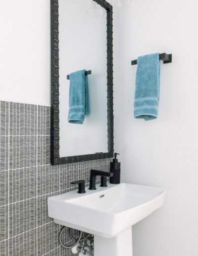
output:
M 60 157 L 108 151 L 106 43 L 105 9 L 59 0 Z

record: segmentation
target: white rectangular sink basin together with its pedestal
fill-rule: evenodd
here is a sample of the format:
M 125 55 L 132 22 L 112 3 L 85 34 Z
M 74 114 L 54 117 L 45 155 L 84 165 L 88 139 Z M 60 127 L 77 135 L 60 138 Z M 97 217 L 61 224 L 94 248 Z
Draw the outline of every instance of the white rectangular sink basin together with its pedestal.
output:
M 95 235 L 94 256 L 132 256 L 132 226 L 162 206 L 165 190 L 121 183 L 48 198 L 54 222 Z

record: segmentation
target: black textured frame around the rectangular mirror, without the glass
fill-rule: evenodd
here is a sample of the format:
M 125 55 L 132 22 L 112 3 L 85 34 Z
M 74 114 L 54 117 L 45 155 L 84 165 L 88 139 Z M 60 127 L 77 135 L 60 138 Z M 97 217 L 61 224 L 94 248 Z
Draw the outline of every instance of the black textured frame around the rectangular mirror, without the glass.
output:
M 108 152 L 88 155 L 59 155 L 59 48 L 58 0 L 51 0 L 51 164 L 68 164 L 113 157 L 113 9 L 105 0 L 94 0 L 107 16 L 107 125 Z M 66 142 L 65 142 L 66 143 Z

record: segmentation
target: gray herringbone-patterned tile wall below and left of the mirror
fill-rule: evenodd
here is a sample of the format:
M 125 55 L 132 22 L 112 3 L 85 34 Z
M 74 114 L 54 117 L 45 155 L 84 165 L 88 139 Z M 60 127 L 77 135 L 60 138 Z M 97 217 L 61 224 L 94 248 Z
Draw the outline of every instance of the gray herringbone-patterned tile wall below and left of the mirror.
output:
M 0 101 L 0 256 L 71 256 L 47 198 L 76 187 L 110 159 L 50 165 L 50 107 Z M 68 241 L 68 237 L 65 240 Z

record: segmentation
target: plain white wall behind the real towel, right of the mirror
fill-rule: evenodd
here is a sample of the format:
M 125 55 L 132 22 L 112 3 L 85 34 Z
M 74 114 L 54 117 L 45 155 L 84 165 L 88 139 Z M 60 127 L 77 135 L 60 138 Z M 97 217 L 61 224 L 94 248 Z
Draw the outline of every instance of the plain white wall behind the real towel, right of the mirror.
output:
M 138 56 L 166 52 L 159 117 L 133 117 Z M 167 189 L 133 227 L 134 256 L 198 256 L 198 1 L 133 0 L 114 12 L 115 149 L 122 181 Z

